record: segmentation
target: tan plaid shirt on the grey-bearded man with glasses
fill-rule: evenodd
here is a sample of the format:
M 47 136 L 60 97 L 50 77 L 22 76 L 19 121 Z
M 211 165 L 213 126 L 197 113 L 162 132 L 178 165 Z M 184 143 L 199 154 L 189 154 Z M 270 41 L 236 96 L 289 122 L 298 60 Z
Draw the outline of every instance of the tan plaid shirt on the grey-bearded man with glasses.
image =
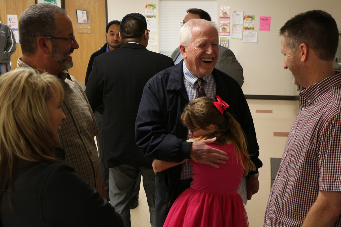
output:
M 17 68 L 40 70 L 18 59 Z M 66 116 L 58 130 L 60 145 L 65 150 L 65 162 L 87 181 L 91 187 L 102 193 L 102 176 L 94 136 L 99 133 L 88 99 L 77 80 L 66 71 L 59 73 L 58 80 L 64 88 L 61 109 Z

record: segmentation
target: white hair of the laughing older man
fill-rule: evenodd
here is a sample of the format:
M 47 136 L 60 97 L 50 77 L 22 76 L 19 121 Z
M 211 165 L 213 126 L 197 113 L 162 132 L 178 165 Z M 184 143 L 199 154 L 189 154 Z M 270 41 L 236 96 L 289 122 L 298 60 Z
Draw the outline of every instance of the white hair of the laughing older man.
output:
M 182 44 L 183 46 L 188 46 L 192 42 L 192 28 L 194 26 L 212 27 L 215 28 L 219 34 L 216 22 L 208 21 L 205 19 L 191 19 L 187 21 L 180 29 L 180 44 Z

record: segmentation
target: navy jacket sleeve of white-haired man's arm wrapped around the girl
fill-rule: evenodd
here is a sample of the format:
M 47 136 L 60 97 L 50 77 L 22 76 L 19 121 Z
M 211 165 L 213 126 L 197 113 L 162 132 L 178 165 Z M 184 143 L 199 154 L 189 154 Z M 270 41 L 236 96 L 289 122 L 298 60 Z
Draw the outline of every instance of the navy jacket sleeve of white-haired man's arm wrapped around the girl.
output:
M 152 78 L 144 87 L 136 118 L 136 143 L 144 156 L 166 162 L 181 162 L 185 158 L 190 158 L 192 142 L 174 135 L 178 134 L 177 130 L 181 130 L 175 126 L 176 123 L 180 124 L 177 118 L 181 108 L 179 113 L 167 110 L 165 103 L 172 101 L 166 99 L 165 88 L 160 86 L 162 83 L 155 83 L 155 79 Z M 172 130 L 173 133 L 170 132 Z

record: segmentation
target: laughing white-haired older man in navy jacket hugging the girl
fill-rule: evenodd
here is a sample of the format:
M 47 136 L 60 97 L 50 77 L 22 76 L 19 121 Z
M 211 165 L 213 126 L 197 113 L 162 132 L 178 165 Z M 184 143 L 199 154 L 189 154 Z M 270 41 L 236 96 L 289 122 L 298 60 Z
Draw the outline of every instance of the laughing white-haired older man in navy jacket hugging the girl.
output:
M 258 159 L 256 133 L 244 94 L 233 78 L 214 68 L 219 50 L 216 26 L 213 21 L 204 19 L 192 19 L 182 26 L 179 47 L 184 59 L 156 74 L 146 84 L 136 118 L 136 143 L 146 157 L 157 160 L 180 163 L 192 158 L 215 168 L 219 168 L 216 163 L 225 164 L 226 153 L 206 145 L 215 139 L 186 141 L 191 136 L 188 128 L 181 124 L 180 115 L 201 89 L 206 96 L 216 99 L 219 95 L 229 104 L 227 111 L 245 132 L 248 152 L 258 169 L 262 167 L 262 162 Z M 163 226 L 176 198 L 190 187 L 191 176 L 189 161 L 157 173 L 157 227 Z M 258 192 L 257 177 L 258 170 L 249 172 L 249 199 Z

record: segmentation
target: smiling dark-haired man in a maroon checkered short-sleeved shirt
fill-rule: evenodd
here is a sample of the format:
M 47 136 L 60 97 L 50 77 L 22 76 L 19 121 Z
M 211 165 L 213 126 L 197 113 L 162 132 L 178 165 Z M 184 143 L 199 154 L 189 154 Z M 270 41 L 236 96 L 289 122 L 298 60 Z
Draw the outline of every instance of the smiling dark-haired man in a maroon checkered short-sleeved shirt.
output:
M 284 69 L 300 85 L 300 109 L 272 185 L 264 226 L 341 226 L 341 73 L 333 70 L 339 31 L 322 10 L 280 29 Z

